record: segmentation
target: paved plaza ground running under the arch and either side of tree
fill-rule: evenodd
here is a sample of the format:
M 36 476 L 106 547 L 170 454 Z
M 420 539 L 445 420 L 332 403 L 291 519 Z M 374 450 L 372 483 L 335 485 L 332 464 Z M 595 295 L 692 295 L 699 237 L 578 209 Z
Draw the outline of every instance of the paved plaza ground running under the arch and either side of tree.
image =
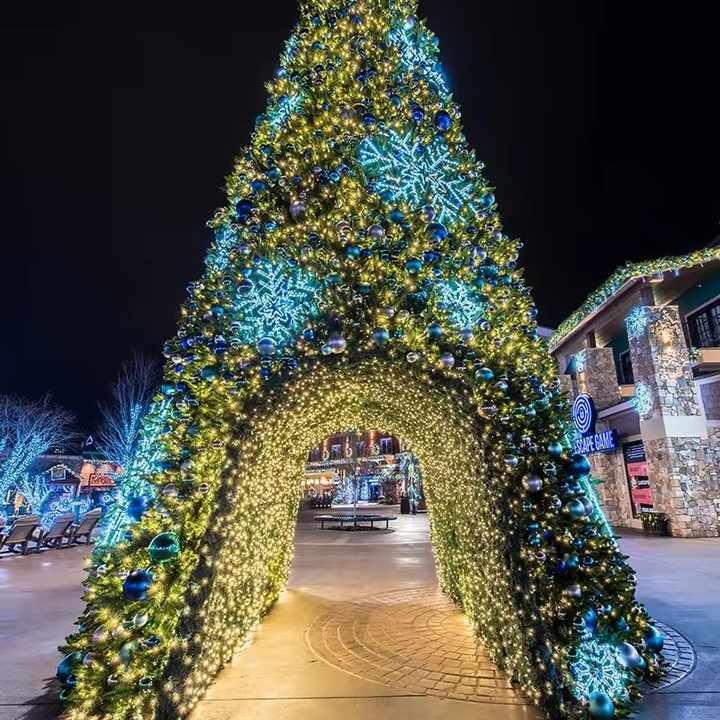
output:
M 536 717 L 435 591 L 425 516 L 401 516 L 390 533 L 321 532 L 310 517 L 298 523 L 288 590 L 193 720 Z M 628 535 L 621 547 L 640 599 L 698 657 L 689 677 L 646 698 L 638 720 L 715 720 L 720 539 Z M 78 547 L 0 558 L 0 720 L 57 717 L 56 646 L 81 608 L 86 555 Z

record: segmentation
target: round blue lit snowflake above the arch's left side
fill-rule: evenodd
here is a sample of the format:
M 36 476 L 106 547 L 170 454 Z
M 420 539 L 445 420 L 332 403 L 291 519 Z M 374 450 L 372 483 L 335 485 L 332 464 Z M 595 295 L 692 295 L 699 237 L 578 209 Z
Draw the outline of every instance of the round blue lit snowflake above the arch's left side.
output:
M 292 342 L 308 317 L 317 313 L 319 284 L 310 273 L 280 260 L 256 263 L 250 286 L 238 293 L 232 329 L 243 343 L 273 340 L 278 348 Z

